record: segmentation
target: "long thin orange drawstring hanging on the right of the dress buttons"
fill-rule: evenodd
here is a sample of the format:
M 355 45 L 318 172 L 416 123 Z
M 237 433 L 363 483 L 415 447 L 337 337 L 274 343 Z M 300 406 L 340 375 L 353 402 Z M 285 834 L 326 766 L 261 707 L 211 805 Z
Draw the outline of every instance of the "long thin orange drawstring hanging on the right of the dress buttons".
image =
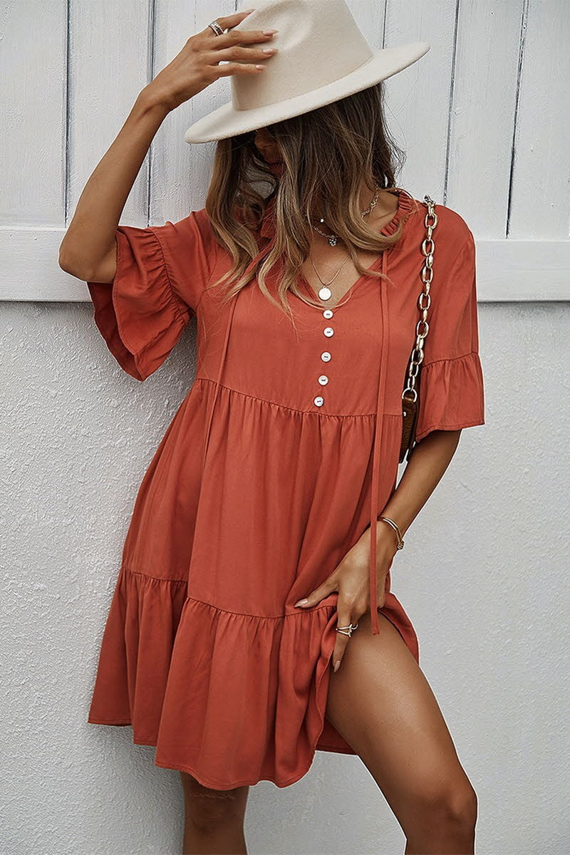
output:
M 382 253 L 382 273 L 386 273 L 387 253 Z M 376 531 L 378 516 L 382 508 L 378 507 L 378 486 L 379 486 L 379 466 L 380 453 L 382 450 L 382 432 L 384 428 L 384 398 L 386 387 L 386 360 L 388 357 L 388 300 L 386 294 L 386 280 L 383 278 L 379 282 L 380 295 L 380 366 L 378 380 L 378 396 L 376 399 L 376 422 L 374 425 L 374 451 L 372 463 L 372 487 L 370 490 L 370 620 L 372 623 L 372 634 L 379 634 L 378 623 L 378 592 L 377 592 L 377 571 L 376 571 Z

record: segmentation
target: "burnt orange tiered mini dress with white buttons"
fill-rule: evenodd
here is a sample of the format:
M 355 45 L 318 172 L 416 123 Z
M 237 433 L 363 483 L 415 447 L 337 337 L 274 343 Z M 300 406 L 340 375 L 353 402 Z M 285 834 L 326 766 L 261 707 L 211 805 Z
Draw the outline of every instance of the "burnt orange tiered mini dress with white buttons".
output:
M 197 315 L 196 379 L 138 489 L 88 721 L 131 725 L 157 766 L 207 787 L 286 787 L 317 750 L 355 753 L 325 718 L 338 594 L 294 604 L 396 486 L 426 213 L 398 198 L 383 232 L 403 220 L 403 236 L 373 265 L 390 281 L 361 276 L 330 309 L 290 293 L 297 328 L 256 280 L 226 305 L 205 287 L 231 266 L 205 209 L 119 226 L 115 280 L 87 283 L 109 351 L 137 380 Z M 473 234 L 452 209 L 436 212 L 418 439 L 485 423 Z M 270 205 L 260 251 L 273 235 Z M 279 265 L 270 290 L 278 278 Z M 405 551 L 397 563 L 404 572 Z M 391 573 L 385 592 L 379 610 L 419 661 Z M 371 616 L 378 632 L 375 603 Z

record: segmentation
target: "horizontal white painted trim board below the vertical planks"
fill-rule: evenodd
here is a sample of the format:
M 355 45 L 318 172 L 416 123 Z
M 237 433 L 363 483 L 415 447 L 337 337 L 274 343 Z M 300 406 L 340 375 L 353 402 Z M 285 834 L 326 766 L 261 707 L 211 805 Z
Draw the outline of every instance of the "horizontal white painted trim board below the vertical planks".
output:
M 57 263 L 65 229 L 0 228 L 0 300 L 88 301 Z M 476 240 L 479 303 L 570 300 L 570 240 Z

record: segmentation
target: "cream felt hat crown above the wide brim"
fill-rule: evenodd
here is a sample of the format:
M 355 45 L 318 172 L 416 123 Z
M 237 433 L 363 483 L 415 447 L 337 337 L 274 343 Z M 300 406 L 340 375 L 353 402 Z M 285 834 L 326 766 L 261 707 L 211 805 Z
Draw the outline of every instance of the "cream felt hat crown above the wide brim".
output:
M 373 56 L 344 0 L 257 0 L 235 30 L 279 30 L 279 50 L 257 75 L 232 75 L 232 105 L 250 110 L 340 80 Z

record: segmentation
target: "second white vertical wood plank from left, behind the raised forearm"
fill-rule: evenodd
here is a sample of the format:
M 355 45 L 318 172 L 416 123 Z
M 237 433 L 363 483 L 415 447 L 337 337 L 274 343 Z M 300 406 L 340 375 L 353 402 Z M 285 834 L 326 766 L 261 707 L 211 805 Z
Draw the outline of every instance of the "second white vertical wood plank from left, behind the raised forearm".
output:
M 153 0 L 73 0 L 69 39 L 69 219 L 85 181 L 149 80 Z M 120 220 L 146 226 L 148 157 Z

